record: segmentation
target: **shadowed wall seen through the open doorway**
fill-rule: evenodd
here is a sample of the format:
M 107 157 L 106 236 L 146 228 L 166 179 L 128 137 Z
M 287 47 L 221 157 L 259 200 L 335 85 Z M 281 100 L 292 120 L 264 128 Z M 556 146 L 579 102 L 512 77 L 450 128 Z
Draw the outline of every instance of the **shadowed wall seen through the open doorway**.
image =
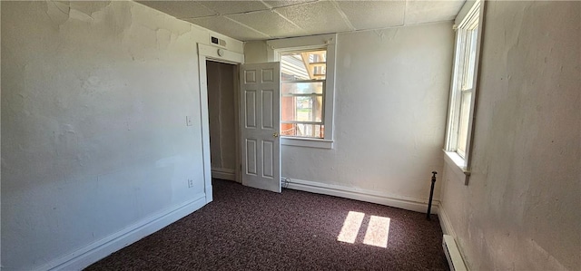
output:
M 227 63 L 206 62 L 208 74 L 208 111 L 210 118 L 210 149 L 212 171 L 233 178 L 236 169 L 236 126 L 234 76 L 236 66 Z M 222 177 L 223 178 L 223 177 Z

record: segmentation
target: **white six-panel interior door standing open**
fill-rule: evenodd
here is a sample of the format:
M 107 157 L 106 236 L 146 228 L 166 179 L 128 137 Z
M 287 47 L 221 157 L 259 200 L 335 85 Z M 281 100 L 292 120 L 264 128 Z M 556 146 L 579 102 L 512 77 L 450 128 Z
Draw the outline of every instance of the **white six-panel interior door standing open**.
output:
M 242 184 L 281 192 L 281 64 L 241 65 Z

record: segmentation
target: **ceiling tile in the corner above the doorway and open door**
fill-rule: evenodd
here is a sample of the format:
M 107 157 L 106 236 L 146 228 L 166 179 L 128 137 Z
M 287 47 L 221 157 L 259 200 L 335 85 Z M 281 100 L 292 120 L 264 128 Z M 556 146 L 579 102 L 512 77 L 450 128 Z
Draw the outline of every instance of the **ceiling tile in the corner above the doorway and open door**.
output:
M 227 35 L 239 41 L 265 40 L 269 38 L 269 36 L 266 34 L 261 34 L 260 32 L 254 31 L 251 28 L 233 22 L 231 19 L 228 19 L 224 16 L 183 20 L 208 28 L 214 32 Z

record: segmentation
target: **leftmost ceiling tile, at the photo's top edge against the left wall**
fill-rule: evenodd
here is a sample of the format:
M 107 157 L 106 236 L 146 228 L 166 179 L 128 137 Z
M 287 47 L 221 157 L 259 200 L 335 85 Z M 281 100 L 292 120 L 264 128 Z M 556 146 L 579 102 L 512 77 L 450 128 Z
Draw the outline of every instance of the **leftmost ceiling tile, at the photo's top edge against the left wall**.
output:
M 211 9 L 191 1 L 137 1 L 176 18 L 196 18 L 217 15 Z

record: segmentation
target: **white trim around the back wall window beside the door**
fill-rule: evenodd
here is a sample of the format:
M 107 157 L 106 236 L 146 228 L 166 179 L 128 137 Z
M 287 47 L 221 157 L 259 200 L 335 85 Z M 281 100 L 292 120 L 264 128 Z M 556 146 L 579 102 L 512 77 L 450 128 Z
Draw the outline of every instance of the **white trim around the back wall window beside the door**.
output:
M 271 40 L 267 43 L 269 62 L 279 62 L 281 53 L 327 48 L 327 74 L 325 82 L 325 110 L 323 139 L 281 137 L 282 145 L 332 149 L 333 148 L 333 121 L 335 111 L 335 59 L 337 34 L 322 34 L 308 37 L 298 37 L 280 40 Z

